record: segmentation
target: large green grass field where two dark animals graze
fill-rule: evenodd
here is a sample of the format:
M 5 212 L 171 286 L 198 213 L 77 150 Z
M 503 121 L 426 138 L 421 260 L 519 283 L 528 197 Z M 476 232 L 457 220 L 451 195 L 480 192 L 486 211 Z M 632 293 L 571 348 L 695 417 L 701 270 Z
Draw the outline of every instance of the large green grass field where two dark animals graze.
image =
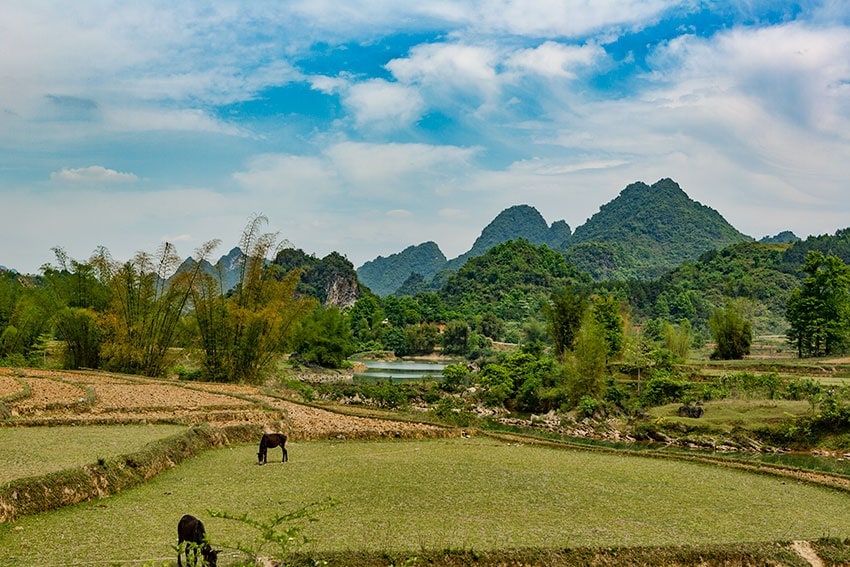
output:
M 217 546 L 256 518 L 333 498 L 306 551 L 607 547 L 850 536 L 850 494 L 727 468 L 489 438 L 291 443 L 215 449 L 108 499 L 0 525 L 0 565 L 162 563 L 180 516 Z M 271 551 L 271 550 L 270 550 Z M 230 557 L 232 560 L 232 556 Z

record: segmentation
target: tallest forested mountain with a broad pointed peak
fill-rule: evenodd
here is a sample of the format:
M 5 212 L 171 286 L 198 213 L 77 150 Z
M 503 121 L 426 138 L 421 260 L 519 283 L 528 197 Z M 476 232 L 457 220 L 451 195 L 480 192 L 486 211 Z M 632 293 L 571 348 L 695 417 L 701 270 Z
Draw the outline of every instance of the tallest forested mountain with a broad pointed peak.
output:
M 595 279 L 652 279 L 709 250 L 751 241 L 671 179 L 632 183 L 573 234 L 567 259 Z

